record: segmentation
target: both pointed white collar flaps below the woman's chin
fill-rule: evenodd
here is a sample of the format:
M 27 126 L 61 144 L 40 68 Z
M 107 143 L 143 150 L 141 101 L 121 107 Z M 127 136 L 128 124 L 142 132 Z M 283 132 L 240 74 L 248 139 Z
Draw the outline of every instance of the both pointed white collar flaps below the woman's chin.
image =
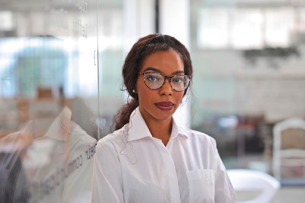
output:
M 138 140 L 144 137 L 152 137 L 152 134 L 142 117 L 139 107 L 137 107 L 131 113 L 130 122 L 127 127 L 129 128 L 128 141 Z M 171 137 L 176 137 L 177 135 L 188 137 L 188 134 L 190 134 L 188 130 L 178 126 L 174 117 L 172 117 Z

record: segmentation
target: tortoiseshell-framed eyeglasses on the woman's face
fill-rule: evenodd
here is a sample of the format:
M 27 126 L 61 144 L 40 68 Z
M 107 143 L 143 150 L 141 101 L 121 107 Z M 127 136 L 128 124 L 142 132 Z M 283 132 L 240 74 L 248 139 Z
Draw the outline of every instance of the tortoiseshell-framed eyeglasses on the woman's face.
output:
M 173 75 L 173 76 L 164 76 L 159 73 L 142 73 L 144 76 L 145 85 L 152 90 L 159 89 L 163 86 L 166 79 L 169 79 L 171 87 L 174 91 L 182 92 L 189 87 L 191 76 L 190 75 Z

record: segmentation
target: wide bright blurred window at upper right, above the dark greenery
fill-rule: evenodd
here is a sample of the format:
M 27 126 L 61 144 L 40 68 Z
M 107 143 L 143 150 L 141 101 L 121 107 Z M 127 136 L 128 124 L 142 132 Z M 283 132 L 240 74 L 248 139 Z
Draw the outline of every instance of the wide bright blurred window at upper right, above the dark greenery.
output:
M 305 34 L 304 7 L 202 7 L 197 18 L 204 49 L 289 47 Z

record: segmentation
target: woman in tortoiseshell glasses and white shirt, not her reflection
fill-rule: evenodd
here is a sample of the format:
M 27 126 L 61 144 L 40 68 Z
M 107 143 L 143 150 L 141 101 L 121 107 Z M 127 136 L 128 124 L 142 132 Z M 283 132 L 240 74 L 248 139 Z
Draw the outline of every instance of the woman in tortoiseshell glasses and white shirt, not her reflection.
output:
M 215 140 L 172 117 L 192 77 L 186 47 L 167 35 L 142 37 L 122 74 L 133 98 L 96 145 L 92 203 L 237 202 Z

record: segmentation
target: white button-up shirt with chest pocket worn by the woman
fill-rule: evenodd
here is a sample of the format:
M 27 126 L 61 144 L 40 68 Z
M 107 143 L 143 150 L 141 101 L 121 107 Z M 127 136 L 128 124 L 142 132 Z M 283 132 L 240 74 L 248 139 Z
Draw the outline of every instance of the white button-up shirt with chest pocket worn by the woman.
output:
M 215 140 L 174 119 L 164 146 L 137 108 L 95 153 L 92 203 L 237 203 Z

